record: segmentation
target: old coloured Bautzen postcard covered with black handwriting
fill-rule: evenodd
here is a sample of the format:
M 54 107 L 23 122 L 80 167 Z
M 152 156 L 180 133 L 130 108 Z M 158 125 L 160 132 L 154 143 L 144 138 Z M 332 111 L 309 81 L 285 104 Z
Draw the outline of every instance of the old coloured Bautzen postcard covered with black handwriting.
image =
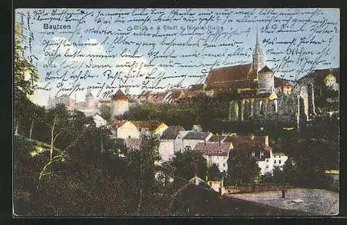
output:
M 339 214 L 338 8 L 15 10 L 14 217 Z

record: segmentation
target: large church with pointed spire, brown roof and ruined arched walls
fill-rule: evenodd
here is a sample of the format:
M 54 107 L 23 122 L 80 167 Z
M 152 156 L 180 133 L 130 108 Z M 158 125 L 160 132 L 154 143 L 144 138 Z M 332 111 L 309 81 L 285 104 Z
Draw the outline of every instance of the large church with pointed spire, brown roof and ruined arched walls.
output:
M 274 76 L 266 66 L 257 33 L 253 62 L 244 65 L 212 69 L 205 92 L 230 99 L 229 120 L 273 119 L 307 121 L 314 112 L 314 89 L 310 84 L 291 85 L 290 81 Z

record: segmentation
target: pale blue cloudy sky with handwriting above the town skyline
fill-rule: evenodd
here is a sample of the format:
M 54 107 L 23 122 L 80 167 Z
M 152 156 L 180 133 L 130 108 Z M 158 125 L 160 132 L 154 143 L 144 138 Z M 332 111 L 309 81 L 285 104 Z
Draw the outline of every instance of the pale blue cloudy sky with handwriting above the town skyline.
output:
M 149 81 L 147 88 L 156 81 L 157 88 L 187 87 L 212 68 L 251 63 L 256 33 L 275 76 L 294 80 L 339 67 L 337 9 L 19 9 L 16 22 L 24 57 L 39 74 L 41 90 L 31 100 L 42 106 L 57 93 L 74 98 L 76 92 L 83 101 L 91 86 L 99 98 L 105 85 L 113 93 L 121 84 L 139 85 L 131 94 Z M 142 29 L 151 35 L 138 35 Z M 77 83 L 85 89 L 64 91 Z

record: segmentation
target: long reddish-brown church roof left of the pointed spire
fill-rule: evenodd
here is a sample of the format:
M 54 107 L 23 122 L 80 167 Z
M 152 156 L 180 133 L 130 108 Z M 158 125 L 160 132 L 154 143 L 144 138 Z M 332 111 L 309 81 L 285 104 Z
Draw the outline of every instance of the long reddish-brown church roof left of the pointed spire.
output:
M 212 69 L 208 74 L 205 83 L 225 83 L 248 79 L 251 73 L 252 64 L 235 65 L 232 67 L 221 67 Z

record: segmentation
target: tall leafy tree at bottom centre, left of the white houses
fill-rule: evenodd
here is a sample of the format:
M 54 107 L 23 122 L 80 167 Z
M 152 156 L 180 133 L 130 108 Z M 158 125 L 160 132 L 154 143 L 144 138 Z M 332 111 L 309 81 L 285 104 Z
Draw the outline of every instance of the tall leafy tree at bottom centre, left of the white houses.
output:
M 158 136 L 142 133 L 140 140 L 139 149 L 129 149 L 126 155 L 128 165 L 124 176 L 130 199 L 128 211 L 132 215 L 173 215 L 171 184 L 162 183 L 162 178 L 158 177 L 158 174 L 171 174 L 167 171 L 169 167 L 158 165 Z

